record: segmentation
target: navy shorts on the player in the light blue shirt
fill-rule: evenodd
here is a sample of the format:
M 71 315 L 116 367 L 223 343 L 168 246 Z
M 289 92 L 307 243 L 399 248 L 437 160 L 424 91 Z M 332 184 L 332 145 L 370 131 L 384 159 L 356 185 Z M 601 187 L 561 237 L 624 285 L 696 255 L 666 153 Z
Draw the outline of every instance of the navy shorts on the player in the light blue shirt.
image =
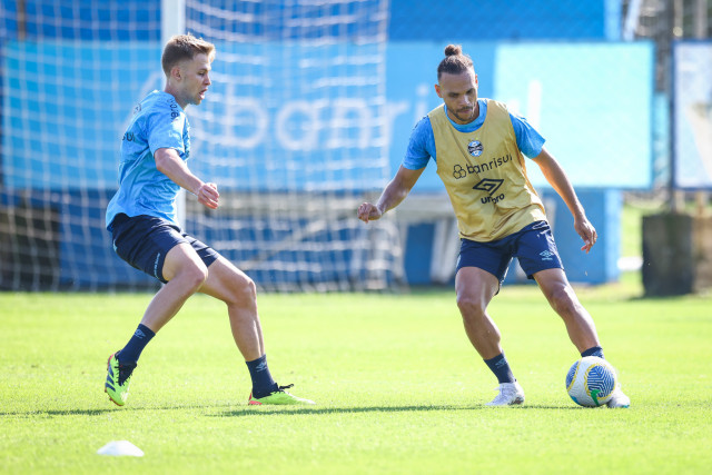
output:
M 154 216 L 140 215 L 129 218 L 117 215 L 111 221 L 113 250 L 132 267 L 156 277 L 164 284 L 166 255 L 176 245 L 187 243 L 198 253 L 206 267 L 215 263 L 218 253 L 198 239 L 182 232 L 170 221 Z

